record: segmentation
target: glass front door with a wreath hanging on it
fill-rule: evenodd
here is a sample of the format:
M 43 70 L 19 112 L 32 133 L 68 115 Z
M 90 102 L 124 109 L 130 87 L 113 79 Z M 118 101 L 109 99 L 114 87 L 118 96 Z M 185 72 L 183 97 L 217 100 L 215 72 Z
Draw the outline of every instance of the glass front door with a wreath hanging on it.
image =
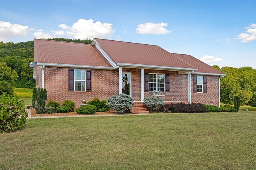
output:
M 122 93 L 132 97 L 132 79 L 130 72 L 122 72 Z

